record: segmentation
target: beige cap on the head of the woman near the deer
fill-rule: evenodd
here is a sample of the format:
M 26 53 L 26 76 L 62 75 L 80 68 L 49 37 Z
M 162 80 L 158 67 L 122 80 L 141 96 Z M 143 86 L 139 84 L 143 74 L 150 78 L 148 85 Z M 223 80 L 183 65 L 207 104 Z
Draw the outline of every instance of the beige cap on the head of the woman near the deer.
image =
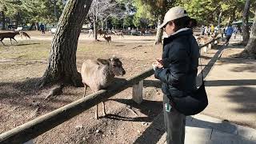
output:
M 165 26 L 167 22 L 170 22 L 174 19 L 186 17 L 186 10 L 182 6 L 172 7 L 167 11 L 165 18 L 163 19 L 162 25 L 158 26 L 158 29 L 162 29 L 162 26 Z

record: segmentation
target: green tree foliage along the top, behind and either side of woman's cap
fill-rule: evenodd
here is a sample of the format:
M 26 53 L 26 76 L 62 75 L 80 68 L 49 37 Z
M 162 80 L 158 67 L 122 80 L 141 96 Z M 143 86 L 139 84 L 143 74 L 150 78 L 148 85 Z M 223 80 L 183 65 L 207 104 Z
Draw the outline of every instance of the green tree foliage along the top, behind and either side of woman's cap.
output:
M 159 2 L 163 5 L 159 6 Z M 222 25 L 226 22 L 242 19 L 242 12 L 246 0 L 134 0 L 136 7 L 136 18 L 134 22 L 138 24 L 138 18 L 146 18 L 150 23 L 157 22 L 160 15 L 165 14 L 172 6 L 183 6 L 191 18 L 197 19 L 200 24 L 218 23 L 218 16 L 222 12 Z M 250 18 L 254 18 L 256 1 L 251 0 Z M 134 23 L 135 25 L 135 23 Z

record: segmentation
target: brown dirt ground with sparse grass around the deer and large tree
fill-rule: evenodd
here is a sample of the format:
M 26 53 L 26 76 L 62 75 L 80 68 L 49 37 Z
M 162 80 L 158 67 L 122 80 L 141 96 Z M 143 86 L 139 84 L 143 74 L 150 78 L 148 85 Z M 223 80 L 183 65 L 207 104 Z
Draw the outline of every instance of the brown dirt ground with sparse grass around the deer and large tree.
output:
M 11 130 L 42 114 L 56 110 L 82 97 L 83 87 L 65 87 L 63 94 L 44 100 L 50 88 L 35 87 L 47 66 L 51 34 L 29 32 L 31 39 L 0 45 L 0 133 Z M 124 78 L 148 69 L 155 58 L 161 58 L 162 46 L 154 46 L 154 36 L 113 38 L 110 45 L 94 42 L 82 34 L 78 42 L 77 68 L 88 58 L 121 58 L 126 70 Z M 202 64 L 214 53 L 202 54 Z M 87 94 L 90 94 L 89 90 Z M 144 143 L 145 132 L 162 110 L 160 83 L 153 76 L 144 81 L 143 102 L 131 100 L 132 89 L 114 95 L 106 102 L 106 117 L 96 120 L 94 107 L 38 136 L 35 143 Z M 99 105 L 99 115 L 102 115 Z M 155 128 L 163 133 L 162 128 Z M 150 142 L 147 142 L 150 143 Z

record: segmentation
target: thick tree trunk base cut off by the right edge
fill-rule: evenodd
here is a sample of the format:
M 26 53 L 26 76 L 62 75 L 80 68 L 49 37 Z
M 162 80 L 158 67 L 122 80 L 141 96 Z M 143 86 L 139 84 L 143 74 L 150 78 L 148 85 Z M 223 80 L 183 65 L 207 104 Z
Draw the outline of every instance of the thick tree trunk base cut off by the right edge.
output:
M 254 16 L 254 23 L 250 33 L 250 39 L 246 46 L 245 52 L 248 54 L 256 54 L 256 15 Z

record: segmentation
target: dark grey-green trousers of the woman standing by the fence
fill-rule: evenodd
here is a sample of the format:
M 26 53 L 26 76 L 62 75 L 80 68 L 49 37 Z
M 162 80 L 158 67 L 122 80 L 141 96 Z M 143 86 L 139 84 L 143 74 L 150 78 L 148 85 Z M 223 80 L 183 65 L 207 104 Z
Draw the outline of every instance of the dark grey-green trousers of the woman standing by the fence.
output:
M 167 144 L 184 144 L 186 115 L 179 113 L 170 106 L 166 94 L 163 95 L 163 114 Z

